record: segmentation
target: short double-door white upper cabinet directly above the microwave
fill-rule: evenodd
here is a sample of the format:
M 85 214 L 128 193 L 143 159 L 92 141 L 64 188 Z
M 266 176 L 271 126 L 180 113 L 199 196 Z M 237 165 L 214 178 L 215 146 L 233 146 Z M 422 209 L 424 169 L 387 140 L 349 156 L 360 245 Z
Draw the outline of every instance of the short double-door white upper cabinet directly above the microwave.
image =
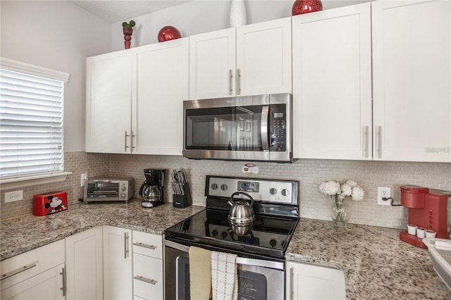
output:
M 291 18 L 190 37 L 190 99 L 291 93 Z

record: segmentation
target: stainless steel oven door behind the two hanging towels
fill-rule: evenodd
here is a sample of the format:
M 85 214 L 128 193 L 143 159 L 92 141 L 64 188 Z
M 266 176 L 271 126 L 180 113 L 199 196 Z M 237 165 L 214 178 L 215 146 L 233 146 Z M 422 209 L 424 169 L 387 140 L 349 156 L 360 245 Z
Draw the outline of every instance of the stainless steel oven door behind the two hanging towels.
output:
M 189 249 L 189 246 L 165 241 L 166 299 L 190 299 Z M 285 299 L 284 263 L 237 257 L 237 270 L 239 300 Z

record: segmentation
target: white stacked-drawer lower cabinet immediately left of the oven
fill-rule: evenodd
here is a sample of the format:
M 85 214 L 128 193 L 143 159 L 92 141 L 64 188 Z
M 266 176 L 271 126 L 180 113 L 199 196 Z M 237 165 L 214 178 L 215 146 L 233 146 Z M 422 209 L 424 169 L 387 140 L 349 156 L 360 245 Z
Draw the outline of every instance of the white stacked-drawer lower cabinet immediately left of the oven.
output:
M 163 299 L 163 240 L 133 231 L 133 299 Z

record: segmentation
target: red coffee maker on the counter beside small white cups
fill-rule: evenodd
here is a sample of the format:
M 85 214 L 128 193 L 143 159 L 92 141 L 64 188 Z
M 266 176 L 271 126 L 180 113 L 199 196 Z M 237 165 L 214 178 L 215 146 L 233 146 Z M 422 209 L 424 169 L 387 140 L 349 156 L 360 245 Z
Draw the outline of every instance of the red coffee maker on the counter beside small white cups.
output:
M 450 192 L 428 189 L 416 185 L 404 185 L 401 189 L 401 205 L 409 208 L 409 224 L 437 232 L 435 237 L 447 239 L 447 211 Z M 417 247 L 427 248 L 422 238 L 400 232 L 400 239 Z

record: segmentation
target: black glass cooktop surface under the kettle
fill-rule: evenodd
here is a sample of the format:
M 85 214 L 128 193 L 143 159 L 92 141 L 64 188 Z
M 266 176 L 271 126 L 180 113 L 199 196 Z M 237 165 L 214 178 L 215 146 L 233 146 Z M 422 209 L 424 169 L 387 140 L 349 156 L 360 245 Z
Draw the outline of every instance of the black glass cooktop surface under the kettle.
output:
M 240 254 L 284 258 L 297 218 L 256 215 L 249 235 L 238 237 L 228 224 L 228 211 L 206 208 L 166 230 L 166 239 L 229 249 Z

